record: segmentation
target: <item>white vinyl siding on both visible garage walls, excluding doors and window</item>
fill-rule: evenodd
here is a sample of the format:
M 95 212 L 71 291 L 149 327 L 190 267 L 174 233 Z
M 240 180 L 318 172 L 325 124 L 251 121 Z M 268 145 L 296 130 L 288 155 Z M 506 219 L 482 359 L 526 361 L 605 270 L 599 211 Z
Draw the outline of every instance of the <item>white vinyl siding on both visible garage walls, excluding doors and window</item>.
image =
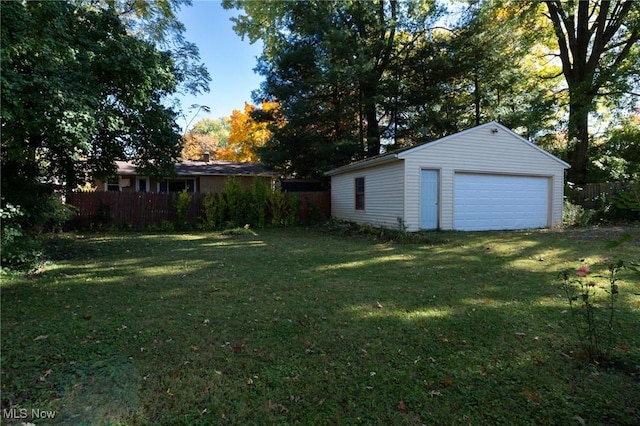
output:
M 547 192 L 547 221 L 562 224 L 564 171 L 568 164 L 492 122 L 435 142 L 369 162 L 332 170 L 331 206 L 334 217 L 407 231 L 421 228 L 421 172 L 439 172 L 439 227 L 454 229 L 456 174 L 543 178 Z M 354 181 L 365 177 L 365 209 L 355 211 Z M 505 225 L 507 226 L 507 225 Z M 536 225 L 537 226 L 537 225 Z M 506 228 L 503 228 L 506 229 Z

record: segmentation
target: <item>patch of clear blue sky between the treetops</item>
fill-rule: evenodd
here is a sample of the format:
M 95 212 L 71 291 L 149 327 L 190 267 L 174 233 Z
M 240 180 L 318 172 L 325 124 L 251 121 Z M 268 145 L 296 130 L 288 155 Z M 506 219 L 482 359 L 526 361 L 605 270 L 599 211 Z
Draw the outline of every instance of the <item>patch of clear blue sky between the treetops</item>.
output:
M 242 110 L 245 102 L 253 103 L 251 92 L 263 80 L 253 72 L 262 44 L 243 41 L 233 31 L 229 18 L 239 14 L 238 10 L 224 10 L 219 0 L 193 0 L 192 6 L 178 12 L 178 20 L 186 27 L 185 38 L 198 46 L 200 59 L 211 75 L 209 93 L 178 97 L 185 115 L 178 120 L 182 128 L 203 118 L 230 116 L 234 109 Z M 195 116 L 195 111 L 189 111 L 193 104 L 206 105 L 211 113 Z

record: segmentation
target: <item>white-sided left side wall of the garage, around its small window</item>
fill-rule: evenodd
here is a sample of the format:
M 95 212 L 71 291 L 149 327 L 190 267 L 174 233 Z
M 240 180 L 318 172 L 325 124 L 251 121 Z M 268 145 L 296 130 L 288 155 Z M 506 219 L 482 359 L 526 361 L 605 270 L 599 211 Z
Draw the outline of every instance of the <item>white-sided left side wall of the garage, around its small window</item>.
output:
M 364 178 L 364 209 L 356 210 L 355 182 Z M 333 176 L 331 214 L 336 219 L 398 228 L 404 209 L 402 161 Z

